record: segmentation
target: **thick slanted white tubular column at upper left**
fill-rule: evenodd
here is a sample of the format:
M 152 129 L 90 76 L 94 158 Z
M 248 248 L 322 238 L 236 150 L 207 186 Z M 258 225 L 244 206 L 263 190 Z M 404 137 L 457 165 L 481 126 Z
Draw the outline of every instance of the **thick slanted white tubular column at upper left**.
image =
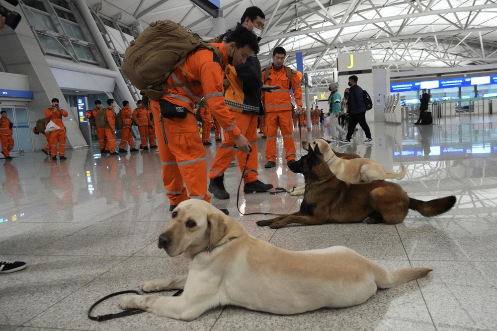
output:
M 119 95 L 123 98 L 123 100 L 129 100 L 130 103 L 132 101 L 135 101 L 135 99 L 131 95 L 131 92 L 129 91 L 128 85 L 126 85 L 126 83 L 124 82 L 124 78 L 120 74 L 119 68 L 117 67 L 112 56 L 110 55 L 107 43 L 105 43 L 105 40 L 103 39 L 102 34 L 100 33 L 100 30 L 98 29 L 98 26 L 96 25 L 96 22 L 93 19 L 93 16 L 91 16 L 91 12 L 88 8 L 88 5 L 84 0 L 76 0 L 76 1 L 78 3 L 78 7 L 80 8 L 81 14 L 83 15 L 84 22 L 86 23 L 86 26 L 88 27 L 88 30 L 90 31 L 91 36 L 93 37 L 93 40 L 95 41 L 98 49 L 100 50 L 100 54 L 102 55 L 105 64 L 108 66 L 109 69 L 119 73 L 116 76 L 116 85 Z

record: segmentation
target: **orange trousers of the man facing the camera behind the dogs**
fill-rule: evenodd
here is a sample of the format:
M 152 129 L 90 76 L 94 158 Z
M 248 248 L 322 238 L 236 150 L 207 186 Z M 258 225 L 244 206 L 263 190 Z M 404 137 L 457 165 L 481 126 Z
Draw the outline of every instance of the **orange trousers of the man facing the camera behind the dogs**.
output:
M 285 158 L 287 161 L 295 160 L 295 142 L 293 141 L 293 122 L 292 111 L 284 110 L 280 112 L 267 112 L 266 115 L 266 159 L 267 161 L 276 161 L 276 135 L 278 133 L 278 123 L 283 136 L 285 146 Z

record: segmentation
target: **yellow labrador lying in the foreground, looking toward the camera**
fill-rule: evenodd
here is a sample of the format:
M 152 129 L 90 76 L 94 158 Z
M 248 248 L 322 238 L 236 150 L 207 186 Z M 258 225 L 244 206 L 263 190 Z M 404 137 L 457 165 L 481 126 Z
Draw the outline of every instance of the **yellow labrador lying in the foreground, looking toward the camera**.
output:
M 198 199 L 183 201 L 173 210 L 159 248 L 171 257 L 191 260 L 188 275 L 146 281 L 141 289 L 184 289 L 183 294 L 124 296 L 121 308 L 184 321 L 224 305 L 298 314 L 358 305 L 377 288 L 391 288 L 432 270 L 387 270 L 342 246 L 287 251 L 252 237 L 239 222 Z

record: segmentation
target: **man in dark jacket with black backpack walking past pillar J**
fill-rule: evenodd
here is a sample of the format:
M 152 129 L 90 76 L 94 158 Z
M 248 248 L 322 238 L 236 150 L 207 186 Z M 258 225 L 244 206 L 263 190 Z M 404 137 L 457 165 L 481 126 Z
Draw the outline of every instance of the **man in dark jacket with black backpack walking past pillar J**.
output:
M 364 105 L 364 92 L 362 88 L 357 85 L 357 76 L 352 75 L 348 77 L 348 86 L 350 86 L 350 94 L 347 100 L 349 121 L 348 121 L 348 132 L 345 139 L 340 140 L 341 143 L 350 143 L 350 138 L 355 131 L 355 127 L 359 124 L 366 134 L 366 140 L 363 142 L 370 143 L 373 141 L 371 138 L 371 131 L 366 123 L 366 106 Z

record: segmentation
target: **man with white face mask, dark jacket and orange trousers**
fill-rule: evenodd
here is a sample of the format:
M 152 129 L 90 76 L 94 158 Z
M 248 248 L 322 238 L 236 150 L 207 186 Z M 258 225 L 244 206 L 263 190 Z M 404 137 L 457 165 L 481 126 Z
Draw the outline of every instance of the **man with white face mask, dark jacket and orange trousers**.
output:
M 242 16 L 241 23 L 237 24 L 236 31 L 251 31 L 259 37 L 264 27 L 264 13 L 257 7 L 249 7 Z M 233 34 L 229 31 L 224 38 L 228 40 Z M 258 180 L 257 173 L 257 117 L 264 114 L 260 102 L 260 63 L 256 54 L 252 54 L 246 63 L 238 66 L 228 66 L 225 70 L 230 85 L 225 92 L 225 104 L 235 117 L 242 134 L 251 145 L 251 152 L 247 160 L 247 153 L 237 151 L 233 135 L 226 134 L 223 143 L 216 151 L 216 157 L 211 165 L 209 178 L 209 192 L 218 199 L 230 199 L 230 194 L 224 187 L 224 172 L 230 166 L 235 154 L 238 165 L 244 178 L 244 193 L 266 192 L 273 188 L 271 184 L 264 184 Z M 247 165 L 246 165 L 247 163 Z

